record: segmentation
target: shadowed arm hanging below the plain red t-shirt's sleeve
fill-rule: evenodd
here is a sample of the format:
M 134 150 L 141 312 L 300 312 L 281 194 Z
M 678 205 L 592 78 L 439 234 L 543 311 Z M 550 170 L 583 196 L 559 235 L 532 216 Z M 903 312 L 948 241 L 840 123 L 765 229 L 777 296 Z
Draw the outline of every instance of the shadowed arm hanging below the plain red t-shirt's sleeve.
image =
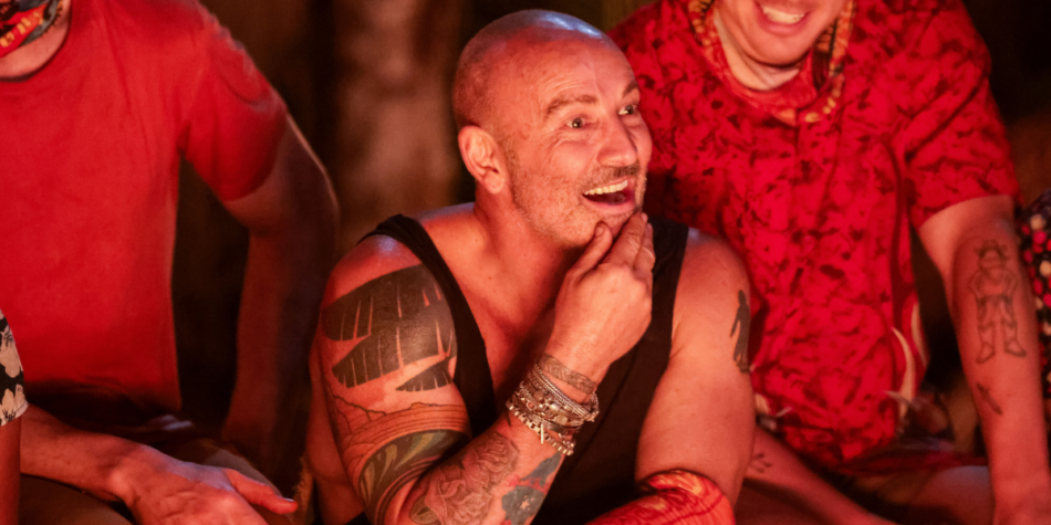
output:
M 223 206 L 248 228 L 250 243 L 237 382 L 222 438 L 270 476 L 294 431 L 289 414 L 306 392 L 306 355 L 334 262 L 337 207 L 291 118 L 262 186 Z

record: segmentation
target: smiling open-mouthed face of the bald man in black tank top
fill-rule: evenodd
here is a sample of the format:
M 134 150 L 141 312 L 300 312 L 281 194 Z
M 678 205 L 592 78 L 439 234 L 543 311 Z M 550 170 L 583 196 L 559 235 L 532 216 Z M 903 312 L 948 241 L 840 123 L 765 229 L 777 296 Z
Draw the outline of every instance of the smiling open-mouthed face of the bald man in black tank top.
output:
M 565 246 L 600 221 L 620 232 L 642 207 L 653 147 L 631 65 L 601 35 L 516 48 L 493 93 L 516 207 Z

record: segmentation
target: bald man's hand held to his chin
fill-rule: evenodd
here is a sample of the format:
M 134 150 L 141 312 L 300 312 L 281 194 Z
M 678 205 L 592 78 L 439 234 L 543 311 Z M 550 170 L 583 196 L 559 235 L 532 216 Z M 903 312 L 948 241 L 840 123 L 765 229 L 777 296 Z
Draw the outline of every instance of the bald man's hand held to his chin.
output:
M 645 213 L 632 216 L 615 243 L 600 223 L 562 282 L 548 353 L 594 378 L 635 346 L 649 326 L 654 259 Z

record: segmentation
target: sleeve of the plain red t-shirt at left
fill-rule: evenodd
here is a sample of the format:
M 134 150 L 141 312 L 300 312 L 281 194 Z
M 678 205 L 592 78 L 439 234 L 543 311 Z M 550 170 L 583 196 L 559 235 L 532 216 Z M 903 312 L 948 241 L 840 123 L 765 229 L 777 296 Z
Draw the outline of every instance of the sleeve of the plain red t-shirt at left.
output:
M 272 170 L 287 109 L 229 31 L 197 9 L 204 23 L 179 147 L 219 199 L 233 200 L 259 188 Z

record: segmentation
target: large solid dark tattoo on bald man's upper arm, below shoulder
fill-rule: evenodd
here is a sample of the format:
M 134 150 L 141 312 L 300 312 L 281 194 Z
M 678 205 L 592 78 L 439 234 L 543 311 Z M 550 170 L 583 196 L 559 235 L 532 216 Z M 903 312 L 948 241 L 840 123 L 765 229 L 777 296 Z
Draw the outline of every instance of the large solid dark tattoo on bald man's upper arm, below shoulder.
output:
M 423 265 L 374 279 L 340 297 L 321 313 L 325 337 L 353 348 L 332 374 L 351 388 L 433 356 L 440 363 L 397 389 L 422 391 L 452 382 L 456 356 L 452 315 L 437 283 Z

